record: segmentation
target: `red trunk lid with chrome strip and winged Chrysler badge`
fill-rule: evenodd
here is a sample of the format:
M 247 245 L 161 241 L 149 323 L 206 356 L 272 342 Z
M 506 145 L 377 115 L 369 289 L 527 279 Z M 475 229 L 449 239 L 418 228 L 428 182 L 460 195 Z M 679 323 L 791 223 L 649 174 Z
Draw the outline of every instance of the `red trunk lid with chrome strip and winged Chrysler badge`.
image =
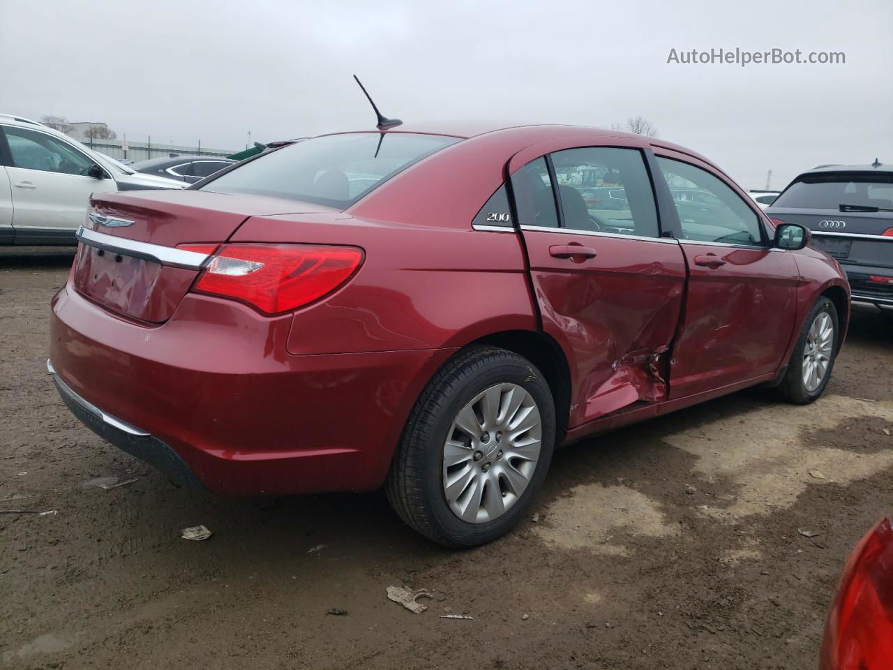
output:
M 114 193 L 90 204 L 75 256 L 74 287 L 105 309 L 146 324 L 171 318 L 204 256 L 248 217 L 332 211 L 275 197 L 195 190 Z

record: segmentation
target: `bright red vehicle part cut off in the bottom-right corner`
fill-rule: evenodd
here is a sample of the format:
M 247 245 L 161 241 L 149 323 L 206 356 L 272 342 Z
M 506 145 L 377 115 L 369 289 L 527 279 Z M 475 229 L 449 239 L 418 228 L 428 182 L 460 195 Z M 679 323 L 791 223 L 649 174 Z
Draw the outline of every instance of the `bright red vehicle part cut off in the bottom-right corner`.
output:
M 888 670 L 893 661 L 893 528 L 875 523 L 853 549 L 831 605 L 819 670 Z

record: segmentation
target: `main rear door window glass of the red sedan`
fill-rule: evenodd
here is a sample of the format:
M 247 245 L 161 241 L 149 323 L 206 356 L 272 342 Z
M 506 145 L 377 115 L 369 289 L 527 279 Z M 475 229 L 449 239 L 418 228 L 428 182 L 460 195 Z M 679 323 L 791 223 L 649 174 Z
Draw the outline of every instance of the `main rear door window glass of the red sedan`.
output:
M 580 147 L 551 157 L 565 228 L 659 236 L 651 180 L 638 149 Z

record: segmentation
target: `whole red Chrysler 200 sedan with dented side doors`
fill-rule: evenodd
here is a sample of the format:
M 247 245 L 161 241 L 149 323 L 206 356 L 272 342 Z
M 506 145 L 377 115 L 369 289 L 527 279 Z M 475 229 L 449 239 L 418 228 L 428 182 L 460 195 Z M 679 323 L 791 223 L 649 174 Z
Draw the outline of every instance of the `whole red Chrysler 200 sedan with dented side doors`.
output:
M 510 528 L 555 445 L 760 383 L 813 401 L 849 319 L 808 230 L 613 130 L 333 134 L 91 207 L 52 305 L 76 415 L 219 494 L 385 484 L 451 546 Z

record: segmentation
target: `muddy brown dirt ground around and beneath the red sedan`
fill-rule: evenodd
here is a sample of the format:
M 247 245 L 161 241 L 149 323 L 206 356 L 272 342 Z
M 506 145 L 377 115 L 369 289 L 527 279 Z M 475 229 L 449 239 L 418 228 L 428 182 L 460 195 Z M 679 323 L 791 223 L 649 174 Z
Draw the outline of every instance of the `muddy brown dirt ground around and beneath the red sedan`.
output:
M 814 668 L 844 558 L 893 513 L 873 312 L 814 405 L 750 390 L 564 448 L 537 522 L 455 552 L 380 492 L 214 499 L 105 445 L 46 375 L 70 264 L 0 251 L 0 509 L 55 510 L 0 515 L 0 666 Z M 85 487 L 104 476 L 136 482 Z M 402 584 L 427 612 L 388 601 Z

